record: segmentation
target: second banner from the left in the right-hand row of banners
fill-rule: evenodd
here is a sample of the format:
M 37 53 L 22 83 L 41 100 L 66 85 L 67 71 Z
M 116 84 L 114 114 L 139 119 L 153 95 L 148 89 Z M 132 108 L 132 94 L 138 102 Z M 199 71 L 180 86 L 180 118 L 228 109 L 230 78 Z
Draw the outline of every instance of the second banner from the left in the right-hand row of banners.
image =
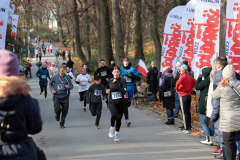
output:
M 194 38 L 195 38 L 195 7 L 197 0 L 187 3 L 182 17 L 181 41 L 177 52 L 177 61 L 188 61 L 188 65 L 194 68 Z

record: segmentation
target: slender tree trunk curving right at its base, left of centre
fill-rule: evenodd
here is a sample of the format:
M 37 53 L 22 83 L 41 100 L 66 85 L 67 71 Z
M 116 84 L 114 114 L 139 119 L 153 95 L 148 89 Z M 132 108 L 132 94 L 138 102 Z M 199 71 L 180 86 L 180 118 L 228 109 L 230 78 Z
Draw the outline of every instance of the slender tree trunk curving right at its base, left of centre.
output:
M 83 54 L 83 51 L 82 51 L 82 48 L 81 48 L 80 32 L 79 32 L 80 27 L 79 27 L 79 18 L 78 18 L 77 2 L 76 2 L 76 0 L 72 0 L 72 6 L 73 6 L 74 33 L 75 33 L 77 55 L 81 59 L 82 62 L 85 62 L 86 61 L 86 57 Z

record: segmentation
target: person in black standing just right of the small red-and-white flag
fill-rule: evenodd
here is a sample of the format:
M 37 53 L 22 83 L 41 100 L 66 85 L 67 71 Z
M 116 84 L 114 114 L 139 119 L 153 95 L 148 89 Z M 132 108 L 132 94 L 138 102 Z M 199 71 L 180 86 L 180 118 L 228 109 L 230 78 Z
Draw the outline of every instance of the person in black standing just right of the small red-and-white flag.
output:
M 147 73 L 147 84 L 150 87 L 152 93 L 155 96 L 155 101 L 158 101 L 157 99 L 157 89 L 158 89 L 158 69 L 157 67 L 155 67 L 155 62 L 152 61 L 151 62 L 151 68 L 148 69 L 148 73 Z

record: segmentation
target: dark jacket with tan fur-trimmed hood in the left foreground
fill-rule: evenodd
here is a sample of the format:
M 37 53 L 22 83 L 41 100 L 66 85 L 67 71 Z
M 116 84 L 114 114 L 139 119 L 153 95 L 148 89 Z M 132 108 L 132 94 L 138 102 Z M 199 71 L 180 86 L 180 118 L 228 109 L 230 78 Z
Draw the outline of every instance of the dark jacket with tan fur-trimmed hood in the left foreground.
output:
M 28 94 L 30 88 L 25 81 L 2 76 L 0 81 L 0 123 L 10 108 L 13 111 L 0 159 L 37 160 L 35 144 L 28 134 L 42 130 L 38 101 Z

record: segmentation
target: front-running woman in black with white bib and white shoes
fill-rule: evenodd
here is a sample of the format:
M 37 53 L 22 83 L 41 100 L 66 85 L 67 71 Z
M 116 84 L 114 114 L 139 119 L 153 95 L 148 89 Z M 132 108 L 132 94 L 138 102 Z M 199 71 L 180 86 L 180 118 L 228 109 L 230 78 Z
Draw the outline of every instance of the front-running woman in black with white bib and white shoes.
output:
M 111 112 L 111 128 L 108 136 L 113 138 L 116 122 L 114 141 L 119 142 L 119 130 L 124 111 L 124 96 L 127 92 L 126 80 L 120 78 L 121 70 L 118 66 L 113 67 L 113 79 L 108 80 L 106 93 L 109 93 L 109 110 Z

